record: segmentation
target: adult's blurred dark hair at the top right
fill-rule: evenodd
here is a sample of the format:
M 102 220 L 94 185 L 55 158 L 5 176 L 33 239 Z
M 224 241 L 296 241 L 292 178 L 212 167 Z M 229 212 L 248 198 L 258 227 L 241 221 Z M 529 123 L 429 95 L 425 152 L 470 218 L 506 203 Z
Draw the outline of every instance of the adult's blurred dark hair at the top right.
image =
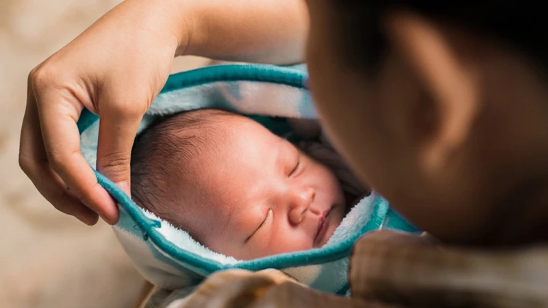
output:
M 349 65 L 369 74 L 375 73 L 387 47 L 382 18 L 398 8 L 489 36 L 547 69 L 547 22 L 540 1 L 327 1 L 336 14 L 342 56 Z

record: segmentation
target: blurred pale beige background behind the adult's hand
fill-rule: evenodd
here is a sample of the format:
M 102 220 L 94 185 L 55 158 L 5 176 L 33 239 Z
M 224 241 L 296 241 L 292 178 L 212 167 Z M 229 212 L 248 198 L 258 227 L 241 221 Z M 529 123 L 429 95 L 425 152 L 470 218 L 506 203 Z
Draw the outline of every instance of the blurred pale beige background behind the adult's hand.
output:
M 0 0 L 0 307 L 131 307 L 142 283 L 110 226 L 53 209 L 17 162 L 27 74 L 119 2 Z

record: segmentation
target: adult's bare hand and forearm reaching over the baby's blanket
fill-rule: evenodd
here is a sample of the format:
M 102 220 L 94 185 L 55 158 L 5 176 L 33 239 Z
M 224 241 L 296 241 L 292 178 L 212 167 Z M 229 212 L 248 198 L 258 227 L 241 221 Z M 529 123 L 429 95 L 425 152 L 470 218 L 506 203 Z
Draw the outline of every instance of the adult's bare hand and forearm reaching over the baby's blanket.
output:
M 174 56 L 299 62 L 307 21 L 293 0 L 123 1 L 29 73 L 21 169 L 59 211 L 116 223 L 116 204 L 79 151 L 82 109 L 101 117 L 97 169 L 129 193 L 134 137 Z

